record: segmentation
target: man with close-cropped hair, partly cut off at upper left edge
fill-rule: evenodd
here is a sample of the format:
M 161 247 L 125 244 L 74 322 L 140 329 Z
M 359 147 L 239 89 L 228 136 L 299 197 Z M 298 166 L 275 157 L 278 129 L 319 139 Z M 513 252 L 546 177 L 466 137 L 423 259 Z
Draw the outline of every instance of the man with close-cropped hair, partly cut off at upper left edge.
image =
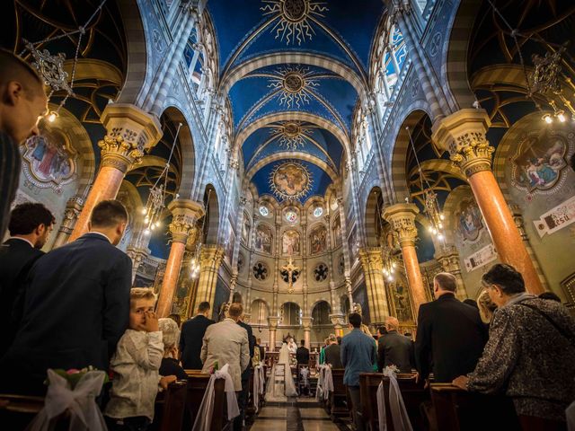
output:
M 47 102 L 36 71 L 22 58 L 0 49 L 0 241 L 20 180 L 19 146 L 38 135 L 38 122 L 47 112 Z

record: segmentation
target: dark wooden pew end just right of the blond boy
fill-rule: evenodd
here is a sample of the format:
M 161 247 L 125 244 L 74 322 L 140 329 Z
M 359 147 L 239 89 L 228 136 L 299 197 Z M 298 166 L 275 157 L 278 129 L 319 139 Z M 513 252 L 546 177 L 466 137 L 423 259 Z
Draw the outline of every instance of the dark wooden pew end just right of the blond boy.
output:
M 186 391 L 188 383 L 171 383 L 167 391 L 158 392 L 155 397 L 154 422 L 151 431 L 172 431 L 181 429 L 186 410 Z

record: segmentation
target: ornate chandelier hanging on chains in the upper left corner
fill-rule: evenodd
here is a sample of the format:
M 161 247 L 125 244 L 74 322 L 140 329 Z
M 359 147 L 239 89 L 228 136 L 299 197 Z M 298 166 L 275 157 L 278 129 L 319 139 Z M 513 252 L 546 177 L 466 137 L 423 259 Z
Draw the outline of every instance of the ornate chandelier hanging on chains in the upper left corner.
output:
M 75 71 L 76 66 L 78 64 L 78 55 L 80 53 L 82 38 L 84 37 L 84 34 L 86 32 L 86 29 L 89 27 L 90 22 L 92 22 L 93 19 L 96 17 L 96 14 L 102 10 L 102 7 L 105 3 L 106 0 L 102 0 L 102 3 L 96 8 L 96 10 L 90 16 L 90 18 L 88 18 L 88 21 L 86 21 L 84 25 L 79 26 L 78 29 L 75 31 L 66 31 L 63 34 L 59 34 L 51 38 L 46 38 L 38 42 L 30 42 L 28 40 L 23 40 L 25 48 L 20 53 L 20 57 L 23 56 L 26 50 L 30 51 L 31 56 L 34 58 L 34 61 L 31 63 L 31 66 L 33 66 L 38 71 L 43 83 L 50 87 L 48 101 L 50 100 L 54 92 L 62 90 L 66 92 L 64 99 L 60 101 L 60 103 L 57 106 L 57 109 L 51 110 L 46 116 L 46 119 L 48 119 L 50 123 L 53 123 L 57 119 L 60 109 L 66 104 L 68 98 L 70 96 L 75 96 L 75 93 L 73 91 L 75 81 Z M 53 40 L 59 40 L 63 38 L 71 40 L 72 39 L 71 36 L 75 34 L 78 35 L 78 40 L 76 42 L 75 56 L 72 62 L 72 75 L 70 76 L 70 84 L 68 84 L 68 74 L 64 70 L 64 62 L 66 60 L 66 56 L 61 52 L 56 55 L 52 55 L 48 49 L 40 50 L 39 47 Z

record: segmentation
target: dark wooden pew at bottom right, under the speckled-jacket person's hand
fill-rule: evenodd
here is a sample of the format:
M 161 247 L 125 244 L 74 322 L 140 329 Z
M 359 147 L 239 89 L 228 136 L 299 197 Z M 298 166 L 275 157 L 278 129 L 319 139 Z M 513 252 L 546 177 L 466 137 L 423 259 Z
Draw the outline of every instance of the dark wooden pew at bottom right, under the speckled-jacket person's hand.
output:
M 450 383 L 431 383 L 431 400 L 441 431 L 518 431 L 509 398 L 463 391 Z

